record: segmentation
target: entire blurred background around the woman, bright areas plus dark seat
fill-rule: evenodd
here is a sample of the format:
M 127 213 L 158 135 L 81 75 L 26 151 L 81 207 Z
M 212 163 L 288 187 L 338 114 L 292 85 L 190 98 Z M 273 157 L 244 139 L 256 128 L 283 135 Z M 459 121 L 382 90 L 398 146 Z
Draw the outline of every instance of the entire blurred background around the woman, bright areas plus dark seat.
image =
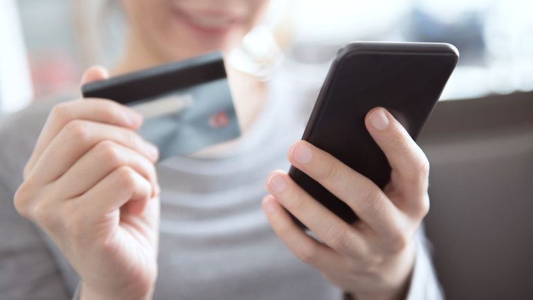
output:
M 110 2 L 0 1 L 0 115 L 112 65 L 123 28 Z M 528 0 L 273 0 L 269 12 L 269 26 L 289 32 L 287 62 L 313 70 L 300 73 L 317 88 L 349 41 L 460 50 L 442 95 L 455 101 L 437 104 L 419 139 L 431 161 L 426 230 L 449 299 L 533 299 L 532 14 Z

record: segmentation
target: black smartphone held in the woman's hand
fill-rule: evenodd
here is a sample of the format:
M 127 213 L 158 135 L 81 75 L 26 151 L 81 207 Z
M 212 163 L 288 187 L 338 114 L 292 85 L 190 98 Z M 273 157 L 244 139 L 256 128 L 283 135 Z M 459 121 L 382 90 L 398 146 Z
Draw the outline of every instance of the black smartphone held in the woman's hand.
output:
M 391 169 L 365 127 L 365 115 L 382 106 L 416 140 L 458 60 L 458 50 L 451 44 L 347 44 L 338 50 L 329 68 L 302 140 L 332 154 L 383 189 L 390 181 Z M 345 222 L 358 220 L 348 205 L 296 167 L 291 167 L 289 176 Z

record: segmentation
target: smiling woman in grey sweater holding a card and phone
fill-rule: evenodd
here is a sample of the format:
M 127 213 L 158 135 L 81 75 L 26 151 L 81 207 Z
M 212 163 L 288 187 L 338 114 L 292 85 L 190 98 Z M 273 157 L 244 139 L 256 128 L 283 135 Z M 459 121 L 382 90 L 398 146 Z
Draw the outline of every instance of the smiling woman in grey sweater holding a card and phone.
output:
M 122 1 L 129 33 L 113 73 L 210 50 L 228 53 L 267 5 Z M 62 102 L 49 115 L 33 109 L 3 124 L 0 137 L 9 144 L 0 156 L 6 207 L 0 227 L 8 267 L 0 281 L 6 297 L 66 299 L 65 290 L 77 285 L 79 299 L 340 299 L 343 293 L 440 299 L 416 234 L 428 212 L 428 162 L 392 115 L 377 108 L 365 120 L 392 165 L 392 180 L 381 191 L 307 142 L 289 147 L 303 121 L 294 120 L 295 86 L 281 75 L 265 85 L 231 68 L 228 74 L 243 137 L 156 167 L 156 147 L 135 132 L 141 116 L 109 100 Z M 82 82 L 105 77 L 102 68 L 90 68 Z M 289 163 L 344 200 L 361 221 L 343 223 L 283 171 L 272 171 Z M 17 212 L 38 231 L 15 216 L 13 195 Z

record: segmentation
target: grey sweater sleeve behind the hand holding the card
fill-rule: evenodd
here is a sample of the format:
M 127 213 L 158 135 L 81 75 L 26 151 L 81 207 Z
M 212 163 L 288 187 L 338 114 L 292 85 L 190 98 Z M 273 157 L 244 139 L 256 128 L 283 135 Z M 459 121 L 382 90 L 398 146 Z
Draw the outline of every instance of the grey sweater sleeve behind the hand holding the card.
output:
M 0 299 L 62 300 L 71 294 L 42 232 L 19 216 L 13 204 L 46 111 L 0 122 Z

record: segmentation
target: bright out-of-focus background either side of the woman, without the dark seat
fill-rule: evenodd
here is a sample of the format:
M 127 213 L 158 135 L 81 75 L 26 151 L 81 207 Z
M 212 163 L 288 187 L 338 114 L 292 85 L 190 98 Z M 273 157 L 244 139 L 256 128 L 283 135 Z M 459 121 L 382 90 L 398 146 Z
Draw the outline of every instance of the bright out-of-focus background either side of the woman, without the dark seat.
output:
M 17 50 L 17 59 L 9 61 L 3 55 L 1 69 L 29 72 L 16 76 L 26 82 L 25 93 L 18 85 L 0 87 L 0 95 L 15 95 L 0 97 L 0 111 L 76 88 L 91 64 L 111 65 L 123 32 L 109 2 L 114 1 L 1 1 L 0 30 L 6 32 L 0 34 L 9 35 L 3 44 L 27 50 Z M 274 8 L 274 14 L 289 14 L 293 43 L 287 57 L 294 62 L 327 69 L 338 47 L 354 40 L 445 41 L 459 48 L 461 59 L 443 99 L 533 90 L 531 1 L 273 0 L 274 7 L 283 5 L 290 8 Z

